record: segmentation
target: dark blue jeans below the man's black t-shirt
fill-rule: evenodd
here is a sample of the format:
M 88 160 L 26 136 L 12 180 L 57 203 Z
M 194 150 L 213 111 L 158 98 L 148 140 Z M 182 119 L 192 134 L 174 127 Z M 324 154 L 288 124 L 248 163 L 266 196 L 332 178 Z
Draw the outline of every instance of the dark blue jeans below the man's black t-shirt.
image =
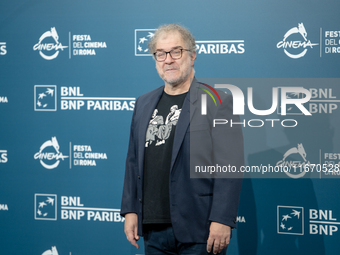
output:
M 172 226 L 158 225 L 147 227 L 144 233 L 145 255 L 208 255 L 206 243 L 181 243 L 177 241 Z M 227 248 L 219 255 L 225 255 Z

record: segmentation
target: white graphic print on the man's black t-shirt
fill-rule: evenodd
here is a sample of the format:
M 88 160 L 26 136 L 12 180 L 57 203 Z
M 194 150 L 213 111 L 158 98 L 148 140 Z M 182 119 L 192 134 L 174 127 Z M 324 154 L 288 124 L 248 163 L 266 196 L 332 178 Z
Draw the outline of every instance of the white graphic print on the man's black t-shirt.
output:
M 173 105 L 170 107 L 170 112 L 165 118 L 161 115 L 157 115 L 158 110 L 153 111 L 151 120 L 149 122 L 148 129 L 146 131 L 146 142 L 145 147 L 148 147 L 153 142 L 155 146 L 164 144 L 169 138 L 172 126 L 176 126 L 178 122 L 179 115 L 182 109 L 178 109 L 178 105 Z

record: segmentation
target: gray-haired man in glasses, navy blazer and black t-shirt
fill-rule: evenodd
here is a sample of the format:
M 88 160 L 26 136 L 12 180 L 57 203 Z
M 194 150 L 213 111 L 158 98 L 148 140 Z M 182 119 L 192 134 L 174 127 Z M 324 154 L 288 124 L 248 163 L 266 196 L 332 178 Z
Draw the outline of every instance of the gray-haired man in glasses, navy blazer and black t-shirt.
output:
M 236 227 L 241 179 L 190 178 L 193 164 L 243 164 L 241 128 L 212 128 L 212 117 L 239 121 L 231 96 L 220 93 L 223 107 L 210 100 L 200 114 L 206 87 L 194 78 L 195 46 L 176 24 L 149 43 L 165 85 L 136 101 L 121 206 L 126 237 L 139 248 L 144 236 L 145 254 L 225 254 Z

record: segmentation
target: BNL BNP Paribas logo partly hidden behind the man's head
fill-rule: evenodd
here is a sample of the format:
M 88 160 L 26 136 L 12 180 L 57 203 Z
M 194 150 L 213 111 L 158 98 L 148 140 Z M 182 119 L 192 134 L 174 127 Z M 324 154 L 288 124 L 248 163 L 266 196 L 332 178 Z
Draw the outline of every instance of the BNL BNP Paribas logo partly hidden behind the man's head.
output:
M 135 29 L 135 56 L 151 56 L 149 41 L 156 29 Z M 196 41 L 197 54 L 243 54 L 244 40 L 203 40 Z

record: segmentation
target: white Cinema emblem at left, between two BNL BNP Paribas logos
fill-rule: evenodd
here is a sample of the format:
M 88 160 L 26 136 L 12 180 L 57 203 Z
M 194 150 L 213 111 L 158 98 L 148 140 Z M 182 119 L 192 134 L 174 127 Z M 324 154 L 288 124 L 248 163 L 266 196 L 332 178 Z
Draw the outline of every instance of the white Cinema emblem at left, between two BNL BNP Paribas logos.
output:
M 44 142 L 40 146 L 39 152 L 34 154 L 34 159 L 39 159 L 40 164 L 46 169 L 54 169 L 59 165 L 60 160 L 68 158 L 68 156 L 64 156 L 59 149 L 60 146 L 57 138 L 52 137 L 51 140 Z

